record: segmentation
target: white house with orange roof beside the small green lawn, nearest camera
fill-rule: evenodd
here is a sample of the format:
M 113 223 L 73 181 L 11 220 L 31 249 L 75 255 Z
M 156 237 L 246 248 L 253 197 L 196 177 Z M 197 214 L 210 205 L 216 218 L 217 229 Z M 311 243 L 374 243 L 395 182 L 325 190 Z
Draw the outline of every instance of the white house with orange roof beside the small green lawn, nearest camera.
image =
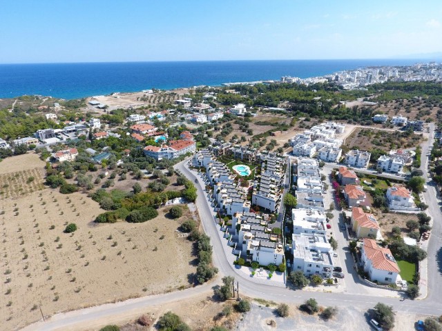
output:
M 379 246 L 373 239 L 363 239 L 361 262 L 371 281 L 394 284 L 401 269 L 391 250 Z

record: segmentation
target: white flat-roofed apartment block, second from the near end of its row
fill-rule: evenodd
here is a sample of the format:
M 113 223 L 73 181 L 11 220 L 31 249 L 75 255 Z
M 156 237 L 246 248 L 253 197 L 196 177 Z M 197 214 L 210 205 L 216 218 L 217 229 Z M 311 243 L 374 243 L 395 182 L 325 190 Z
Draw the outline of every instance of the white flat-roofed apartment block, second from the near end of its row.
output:
M 317 209 L 292 209 L 293 233 L 325 234 L 327 232 L 325 213 Z

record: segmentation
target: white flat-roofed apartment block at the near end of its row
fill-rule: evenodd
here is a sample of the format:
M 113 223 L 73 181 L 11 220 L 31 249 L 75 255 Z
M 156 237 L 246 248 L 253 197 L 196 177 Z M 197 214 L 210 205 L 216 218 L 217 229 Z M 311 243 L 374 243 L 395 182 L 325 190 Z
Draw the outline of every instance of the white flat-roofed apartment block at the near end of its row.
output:
M 293 271 L 302 271 L 305 276 L 318 274 L 320 277 L 332 277 L 332 246 L 325 234 L 292 234 Z

